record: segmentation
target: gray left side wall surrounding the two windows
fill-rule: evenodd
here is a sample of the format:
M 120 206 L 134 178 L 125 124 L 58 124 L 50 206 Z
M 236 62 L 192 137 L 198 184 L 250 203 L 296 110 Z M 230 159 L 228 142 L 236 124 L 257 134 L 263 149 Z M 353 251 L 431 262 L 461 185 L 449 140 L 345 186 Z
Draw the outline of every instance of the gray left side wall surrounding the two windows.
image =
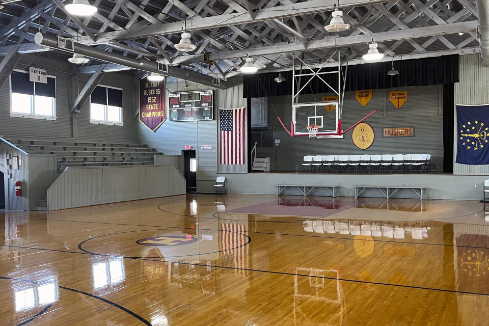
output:
M 132 76 L 123 73 L 105 73 L 101 84 L 123 88 L 123 126 L 98 125 L 90 123 L 89 100 L 82 107 L 82 112 L 75 118 L 72 130 L 70 103 L 78 94 L 72 65 L 67 60 L 53 60 L 45 54 L 32 53 L 22 55 L 16 68 L 28 70 L 29 66 L 47 70 L 49 75 L 56 76 L 56 120 L 10 117 L 10 84 L 9 80 L 0 89 L 0 134 L 29 135 L 37 137 L 75 137 L 81 139 L 129 140 L 134 138 L 132 112 L 137 93 Z M 79 89 L 82 90 L 90 75 L 79 75 Z

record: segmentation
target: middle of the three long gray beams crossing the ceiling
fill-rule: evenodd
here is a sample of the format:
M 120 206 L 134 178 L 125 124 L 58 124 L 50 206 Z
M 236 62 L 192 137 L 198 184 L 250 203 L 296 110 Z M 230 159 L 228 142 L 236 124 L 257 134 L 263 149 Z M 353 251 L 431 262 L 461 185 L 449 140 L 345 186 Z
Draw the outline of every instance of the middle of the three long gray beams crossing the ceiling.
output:
M 451 24 L 437 25 L 437 26 L 426 26 L 409 30 L 400 30 L 392 32 L 381 32 L 354 36 L 338 37 L 332 36 L 321 40 L 312 40 L 306 42 L 307 47 L 301 42 L 282 44 L 282 45 L 272 45 L 272 46 L 261 46 L 249 49 L 235 50 L 235 51 L 219 51 L 209 54 L 209 60 L 223 60 L 223 59 L 235 59 L 235 58 L 245 58 L 245 57 L 258 57 L 267 55 L 278 55 L 280 53 L 287 52 L 301 52 L 301 51 L 313 51 L 323 48 L 336 48 L 336 47 L 348 47 L 355 46 L 358 44 L 367 44 L 372 41 L 375 42 L 388 42 L 396 40 L 406 40 L 413 38 L 430 37 L 437 35 L 447 35 L 455 33 L 469 33 L 474 32 L 477 29 L 477 21 L 465 21 L 457 22 Z M 159 62 L 166 63 L 164 59 L 158 60 Z M 203 62 L 203 55 L 191 55 L 185 57 L 175 58 L 172 64 L 187 64 L 193 62 Z M 168 64 L 168 63 L 166 63 Z

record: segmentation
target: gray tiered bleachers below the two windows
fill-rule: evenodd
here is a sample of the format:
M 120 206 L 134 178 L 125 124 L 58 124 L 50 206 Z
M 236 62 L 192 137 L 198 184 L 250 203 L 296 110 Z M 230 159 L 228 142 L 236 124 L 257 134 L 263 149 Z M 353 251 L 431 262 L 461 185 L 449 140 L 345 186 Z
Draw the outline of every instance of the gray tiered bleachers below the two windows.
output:
M 152 165 L 153 155 L 162 154 L 138 141 L 91 141 L 6 137 L 30 154 L 55 154 L 58 174 L 67 167 Z

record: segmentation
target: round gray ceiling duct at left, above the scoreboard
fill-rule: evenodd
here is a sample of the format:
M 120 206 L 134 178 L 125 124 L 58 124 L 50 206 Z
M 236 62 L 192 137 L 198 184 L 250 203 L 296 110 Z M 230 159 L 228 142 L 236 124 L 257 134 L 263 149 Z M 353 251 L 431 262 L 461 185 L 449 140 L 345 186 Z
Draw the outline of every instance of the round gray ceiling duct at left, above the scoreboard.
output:
M 71 42 L 70 39 L 63 39 L 63 40 Z M 226 89 L 226 82 L 224 80 L 216 80 L 211 76 L 207 76 L 192 70 L 180 69 L 177 67 L 168 66 L 168 72 L 161 71 L 158 70 L 158 63 L 154 61 L 143 60 L 143 59 L 135 60 L 121 55 L 117 55 L 112 52 L 103 51 L 95 47 L 79 44 L 76 42 L 72 42 L 72 45 L 65 43 L 66 47 L 68 48 L 60 47 L 58 42 L 58 37 L 56 36 L 36 33 L 36 35 L 34 36 L 34 41 L 37 44 L 44 45 L 60 51 L 65 51 L 68 53 L 78 53 L 79 55 L 87 56 L 101 61 L 112 62 L 115 64 L 127 66 L 142 71 L 154 72 L 167 77 L 174 77 L 183 80 L 188 80 L 189 82 L 202 84 L 209 87 Z

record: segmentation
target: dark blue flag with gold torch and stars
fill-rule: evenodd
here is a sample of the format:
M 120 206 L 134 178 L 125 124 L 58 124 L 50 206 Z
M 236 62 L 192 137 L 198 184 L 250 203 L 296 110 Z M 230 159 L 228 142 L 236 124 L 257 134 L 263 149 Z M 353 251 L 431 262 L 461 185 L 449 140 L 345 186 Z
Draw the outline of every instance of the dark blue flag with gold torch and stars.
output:
M 489 104 L 457 105 L 457 158 L 460 164 L 489 164 Z

